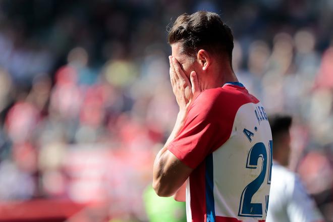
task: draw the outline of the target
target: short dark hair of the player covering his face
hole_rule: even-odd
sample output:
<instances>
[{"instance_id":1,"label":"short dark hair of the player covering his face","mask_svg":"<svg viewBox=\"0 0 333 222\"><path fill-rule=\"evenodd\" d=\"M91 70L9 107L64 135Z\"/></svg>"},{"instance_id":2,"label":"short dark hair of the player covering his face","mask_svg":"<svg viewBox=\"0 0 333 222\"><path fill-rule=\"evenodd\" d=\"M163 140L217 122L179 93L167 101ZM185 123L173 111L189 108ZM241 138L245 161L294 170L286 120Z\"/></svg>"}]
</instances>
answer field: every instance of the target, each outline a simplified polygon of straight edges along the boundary
<instances>
[{"instance_id":1,"label":"short dark hair of the player covering his face","mask_svg":"<svg viewBox=\"0 0 333 222\"><path fill-rule=\"evenodd\" d=\"M198 11L192 15L182 14L169 30L168 42L182 43L183 52L190 57L205 49L212 53L225 53L232 61L234 37L229 26L216 13Z\"/></svg>"}]
</instances>

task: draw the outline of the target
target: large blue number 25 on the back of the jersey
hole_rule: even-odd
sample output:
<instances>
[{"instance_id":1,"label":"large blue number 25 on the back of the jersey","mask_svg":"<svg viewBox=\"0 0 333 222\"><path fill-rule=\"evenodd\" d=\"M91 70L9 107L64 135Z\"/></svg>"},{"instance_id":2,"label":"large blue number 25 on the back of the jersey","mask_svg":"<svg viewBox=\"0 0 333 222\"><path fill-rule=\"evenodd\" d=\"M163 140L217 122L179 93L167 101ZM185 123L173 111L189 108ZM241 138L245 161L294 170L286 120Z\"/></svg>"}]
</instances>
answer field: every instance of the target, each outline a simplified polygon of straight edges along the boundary
<instances>
[{"instance_id":1,"label":"large blue number 25 on the back of the jersey","mask_svg":"<svg viewBox=\"0 0 333 222\"><path fill-rule=\"evenodd\" d=\"M269 154L271 156L271 147L272 141L269 141ZM249 151L246 168L256 169L258 167L258 159L262 158L262 168L259 176L249 183L242 192L241 201L239 204L238 215L239 216L250 216L250 217L262 217L262 203L251 203L251 199L253 195L258 191L261 184L263 183L266 175L267 168L267 151L266 147L262 142L256 143ZM270 166L269 166L269 183L270 183L270 172L271 172L271 158L270 158ZM268 184L268 181L267 181ZM269 196L266 196L266 207L268 208L268 199Z\"/></svg>"}]
</instances>

